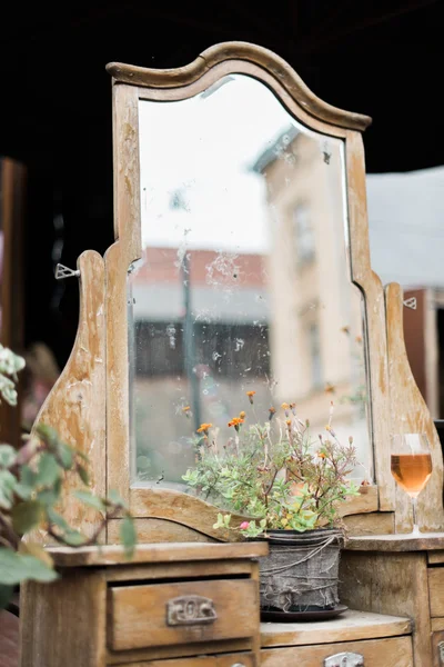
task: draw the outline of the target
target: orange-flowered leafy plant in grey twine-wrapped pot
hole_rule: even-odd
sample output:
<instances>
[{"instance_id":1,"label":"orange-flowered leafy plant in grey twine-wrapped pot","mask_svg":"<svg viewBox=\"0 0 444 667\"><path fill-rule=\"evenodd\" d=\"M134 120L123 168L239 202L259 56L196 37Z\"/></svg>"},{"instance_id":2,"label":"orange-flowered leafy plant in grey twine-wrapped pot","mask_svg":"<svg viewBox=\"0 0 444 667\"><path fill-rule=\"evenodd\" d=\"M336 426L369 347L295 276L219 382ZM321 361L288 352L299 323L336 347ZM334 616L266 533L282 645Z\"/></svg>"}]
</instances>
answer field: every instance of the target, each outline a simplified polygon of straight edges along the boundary
<instances>
[{"instance_id":1,"label":"orange-flowered leafy plant in grey twine-wrapped pot","mask_svg":"<svg viewBox=\"0 0 444 667\"><path fill-rule=\"evenodd\" d=\"M190 492L225 510L215 528L234 527L244 538L268 539L261 561L264 611L334 610L344 530L340 506L360 492L350 479L359 465L353 439L343 445L332 426L313 437L294 404L254 416L254 391L248 392L253 422L244 411L229 422L233 437L218 440L218 429L203 424L194 446L195 466L183 479ZM367 485L367 481L363 482ZM233 526L232 514L245 517Z\"/></svg>"}]
</instances>

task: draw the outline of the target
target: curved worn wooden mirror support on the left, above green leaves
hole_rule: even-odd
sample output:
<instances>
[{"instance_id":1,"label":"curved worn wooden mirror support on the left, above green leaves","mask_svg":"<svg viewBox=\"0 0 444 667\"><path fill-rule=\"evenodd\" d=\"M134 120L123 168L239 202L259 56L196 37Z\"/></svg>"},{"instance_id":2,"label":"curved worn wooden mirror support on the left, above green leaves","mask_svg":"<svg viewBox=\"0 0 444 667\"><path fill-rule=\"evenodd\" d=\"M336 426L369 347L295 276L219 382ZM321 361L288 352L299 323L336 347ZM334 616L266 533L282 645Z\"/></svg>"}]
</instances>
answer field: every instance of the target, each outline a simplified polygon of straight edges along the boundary
<instances>
[{"instance_id":1,"label":"curved worn wooden mirror support on the left, above green leaves","mask_svg":"<svg viewBox=\"0 0 444 667\"><path fill-rule=\"evenodd\" d=\"M43 404L37 424L52 426L69 445L90 460L91 490L105 495L105 326L102 257L92 250L78 261L80 270L79 328L71 356ZM101 521L93 509L72 497L79 478L68 475L62 514L67 521L90 536Z\"/></svg>"}]
</instances>

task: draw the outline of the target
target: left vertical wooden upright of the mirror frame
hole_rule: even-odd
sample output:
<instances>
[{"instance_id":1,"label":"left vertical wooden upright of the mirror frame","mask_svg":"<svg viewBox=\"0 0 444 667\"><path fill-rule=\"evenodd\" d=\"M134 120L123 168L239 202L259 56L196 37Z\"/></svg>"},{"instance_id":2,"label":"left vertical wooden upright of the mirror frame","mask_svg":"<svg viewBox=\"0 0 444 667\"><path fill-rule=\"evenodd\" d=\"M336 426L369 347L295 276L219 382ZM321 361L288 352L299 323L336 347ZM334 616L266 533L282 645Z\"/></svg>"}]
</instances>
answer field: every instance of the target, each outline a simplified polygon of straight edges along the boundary
<instances>
[{"instance_id":1,"label":"left vertical wooden upright of the mirror frame","mask_svg":"<svg viewBox=\"0 0 444 667\"><path fill-rule=\"evenodd\" d=\"M114 235L107 272L108 488L129 501L130 426L127 276L141 256L139 99L135 88L113 87Z\"/></svg>"}]
</instances>

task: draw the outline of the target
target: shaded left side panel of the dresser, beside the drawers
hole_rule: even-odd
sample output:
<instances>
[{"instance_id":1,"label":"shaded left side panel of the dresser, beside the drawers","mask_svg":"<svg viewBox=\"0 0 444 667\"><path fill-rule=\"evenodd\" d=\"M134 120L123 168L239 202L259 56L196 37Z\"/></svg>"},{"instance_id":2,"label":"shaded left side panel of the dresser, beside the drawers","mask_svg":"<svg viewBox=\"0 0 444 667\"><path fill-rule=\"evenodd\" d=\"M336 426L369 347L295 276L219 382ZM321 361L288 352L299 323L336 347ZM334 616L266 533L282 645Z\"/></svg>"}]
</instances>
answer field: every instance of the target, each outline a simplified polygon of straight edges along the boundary
<instances>
[{"instance_id":1,"label":"shaded left side panel of the dresser, beside the drawers","mask_svg":"<svg viewBox=\"0 0 444 667\"><path fill-rule=\"evenodd\" d=\"M20 667L104 667L107 585L99 573L64 571L28 583L20 603Z\"/></svg>"}]
</instances>

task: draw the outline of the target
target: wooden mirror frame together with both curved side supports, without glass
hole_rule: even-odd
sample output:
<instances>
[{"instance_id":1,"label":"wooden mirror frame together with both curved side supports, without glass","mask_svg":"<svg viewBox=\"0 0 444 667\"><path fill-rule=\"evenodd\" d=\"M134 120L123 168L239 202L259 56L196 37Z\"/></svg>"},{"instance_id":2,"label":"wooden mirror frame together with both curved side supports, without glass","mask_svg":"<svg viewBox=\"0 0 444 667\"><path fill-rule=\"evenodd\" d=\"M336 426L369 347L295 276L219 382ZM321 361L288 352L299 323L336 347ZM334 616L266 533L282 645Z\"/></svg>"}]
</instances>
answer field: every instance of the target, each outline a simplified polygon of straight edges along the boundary
<instances>
[{"instance_id":1,"label":"wooden mirror frame together with both curved side supports, without glass","mask_svg":"<svg viewBox=\"0 0 444 667\"><path fill-rule=\"evenodd\" d=\"M71 409L70 420L74 428L65 434L62 426L61 435L92 455L94 488L99 492L104 488L118 490L137 518L140 539L221 539L221 531L213 529L218 508L170 489L131 487L127 277L130 265L142 255L139 100L184 100L202 92L221 77L246 74L264 83L301 123L326 137L344 140L351 279L361 290L366 310L371 441L376 482L367 492L344 504L346 522L352 534L361 535L410 530L411 504L405 494L396 491L390 470L390 434L425 431L432 447L433 474L420 497L418 519L423 530L442 530L442 450L406 358L402 290L393 283L384 291L371 267L362 141L362 131L371 119L323 102L284 60L266 49L244 42L212 47L194 62L179 69L154 70L111 63L107 70L112 76L113 89L115 242L108 249L104 260L93 252L83 253L79 260L82 299L78 340L67 368L43 406L40 420L56 427L61 424L54 418L57 410L54 412L52 404L58 401L59 416L60 409L64 415L68 406L61 407L61 399L69 387L71 407L68 409ZM104 285L100 285L102 273ZM95 389L90 391L85 378L91 379L91 387ZM87 389L88 402L82 397L84 391L75 394L72 389L79 388L80 381L83 390ZM69 404L68 396L64 398ZM87 432L97 435L93 445L85 441ZM68 512L71 520L83 521L87 531L91 530L93 519L80 517L74 506L70 506ZM117 540L119 520L109 521L108 541ZM226 532L223 538L235 539L235 535Z\"/></svg>"}]
</instances>

